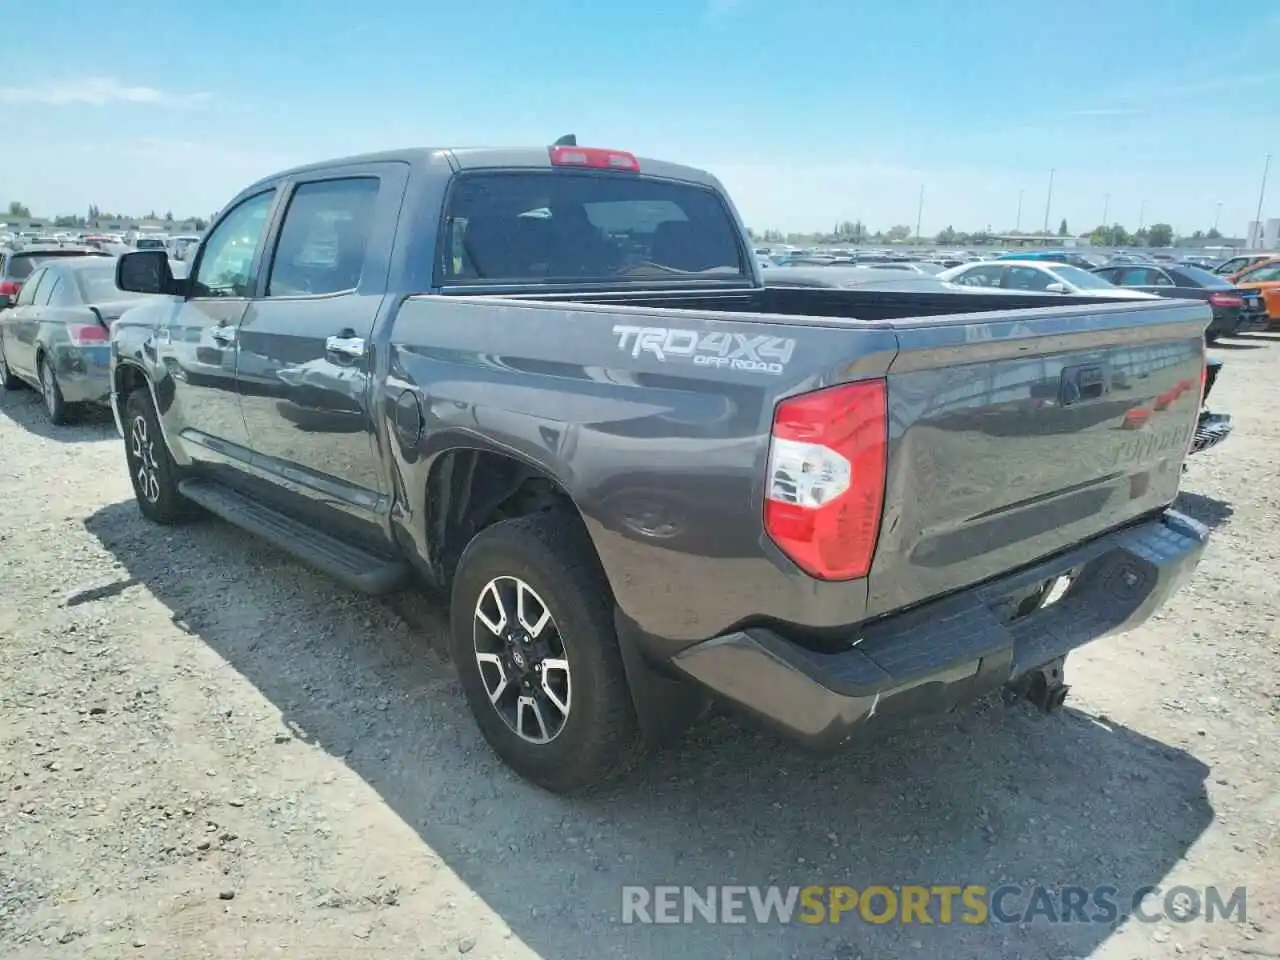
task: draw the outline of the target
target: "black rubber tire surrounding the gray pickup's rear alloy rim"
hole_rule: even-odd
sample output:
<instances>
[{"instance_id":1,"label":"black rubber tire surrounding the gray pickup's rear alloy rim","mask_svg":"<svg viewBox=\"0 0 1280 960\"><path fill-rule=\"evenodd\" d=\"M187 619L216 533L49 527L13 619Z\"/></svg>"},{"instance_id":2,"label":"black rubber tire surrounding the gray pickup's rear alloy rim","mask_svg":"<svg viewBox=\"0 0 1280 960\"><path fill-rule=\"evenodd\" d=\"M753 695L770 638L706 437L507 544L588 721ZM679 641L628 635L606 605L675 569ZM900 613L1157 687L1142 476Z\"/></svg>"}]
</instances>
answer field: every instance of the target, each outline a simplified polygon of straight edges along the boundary
<instances>
[{"instance_id":1,"label":"black rubber tire surrounding the gray pickup's rear alloy rim","mask_svg":"<svg viewBox=\"0 0 1280 960\"><path fill-rule=\"evenodd\" d=\"M552 616L550 632L563 641L562 654L556 655L568 663L568 712L559 732L545 742L526 740L499 713L477 663L476 636L484 630L477 623L477 604L489 584L499 579L527 584ZM580 521L556 512L486 527L463 550L454 573L449 652L471 713L507 765L556 794L577 792L605 781L632 758L637 746L635 708L611 596ZM492 635L479 635L481 643L498 643ZM502 676L507 676L506 671ZM536 687L531 692L539 694Z\"/></svg>"}]
</instances>

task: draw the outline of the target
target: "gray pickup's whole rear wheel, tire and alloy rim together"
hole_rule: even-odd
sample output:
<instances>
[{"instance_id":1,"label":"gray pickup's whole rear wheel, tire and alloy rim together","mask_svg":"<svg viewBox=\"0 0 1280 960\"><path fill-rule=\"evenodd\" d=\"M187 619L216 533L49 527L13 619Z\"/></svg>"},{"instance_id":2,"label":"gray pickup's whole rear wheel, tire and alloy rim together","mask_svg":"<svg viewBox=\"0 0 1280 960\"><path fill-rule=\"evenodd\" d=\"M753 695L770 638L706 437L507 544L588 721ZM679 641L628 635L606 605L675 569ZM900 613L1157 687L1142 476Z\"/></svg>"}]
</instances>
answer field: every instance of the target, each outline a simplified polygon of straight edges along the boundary
<instances>
[{"instance_id":1,"label":"gray pickup's whole rear wheel, tire and alloy rim together","mask_svg":"<svg viewBox=\"0 0 1280 960\"><path fill-rule=\"evenodd\" d=\"M637 741L609 589L576 517L504 520L458 562L449 645L489 746L557 794L608 777Z\"/></svg>"}]
</instances>

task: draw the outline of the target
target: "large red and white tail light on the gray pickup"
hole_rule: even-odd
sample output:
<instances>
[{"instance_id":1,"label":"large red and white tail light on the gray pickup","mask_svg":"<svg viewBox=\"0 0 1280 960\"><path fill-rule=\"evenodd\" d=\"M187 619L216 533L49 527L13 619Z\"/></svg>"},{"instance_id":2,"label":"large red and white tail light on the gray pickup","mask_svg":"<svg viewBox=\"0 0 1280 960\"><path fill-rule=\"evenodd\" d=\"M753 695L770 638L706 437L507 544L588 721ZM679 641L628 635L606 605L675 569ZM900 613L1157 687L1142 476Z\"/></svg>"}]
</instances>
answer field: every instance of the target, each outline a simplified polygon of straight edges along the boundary
<instances>
[{"instance_id":1,"label":"large red and white tail light on the gray pickup","mask_svg":"<svg viewBox=\"0 0 1280 960\"><path fill-rule=\"evenodd\" d=\"M852 580L870 570L887 445L883 380L791 397L774 411L764 530L810 576Z\"/></svg>"}]
</instances>

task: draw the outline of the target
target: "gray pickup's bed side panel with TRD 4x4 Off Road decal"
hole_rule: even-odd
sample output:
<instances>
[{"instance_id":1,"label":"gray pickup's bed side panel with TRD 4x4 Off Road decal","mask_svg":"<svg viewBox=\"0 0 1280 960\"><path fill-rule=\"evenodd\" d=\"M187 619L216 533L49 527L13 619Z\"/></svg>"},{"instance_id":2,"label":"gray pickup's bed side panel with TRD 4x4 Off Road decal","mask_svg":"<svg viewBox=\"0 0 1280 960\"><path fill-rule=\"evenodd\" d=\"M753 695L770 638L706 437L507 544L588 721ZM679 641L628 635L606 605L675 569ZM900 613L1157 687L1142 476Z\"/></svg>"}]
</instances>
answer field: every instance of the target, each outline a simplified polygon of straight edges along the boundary
<instances>
[{"instance_id":1,"label":"gray pickup's bed side panel with TRD 4x4 Off Road decal","mask_svg":"<svg viewBox=\"0 0 1280 960\"><path fill-rule=\"evenodd\" d=\"M836 626L861 616L865 590L819 584L763 531L762 485L780 397L882 375L893 334L869 325L790 326L497 298L412 297L380 349L383 403L420 404L421 435L390 428L396 522L426 556L428 480L456 447L518 457L556 477L595 543L622 613L676 644L762 614ZM626 329L676 330L636 347ZM687 335L791 340L778 372L698 365ZM666 650L672 653L673 650Z\"/></svg>"}]
</instances>

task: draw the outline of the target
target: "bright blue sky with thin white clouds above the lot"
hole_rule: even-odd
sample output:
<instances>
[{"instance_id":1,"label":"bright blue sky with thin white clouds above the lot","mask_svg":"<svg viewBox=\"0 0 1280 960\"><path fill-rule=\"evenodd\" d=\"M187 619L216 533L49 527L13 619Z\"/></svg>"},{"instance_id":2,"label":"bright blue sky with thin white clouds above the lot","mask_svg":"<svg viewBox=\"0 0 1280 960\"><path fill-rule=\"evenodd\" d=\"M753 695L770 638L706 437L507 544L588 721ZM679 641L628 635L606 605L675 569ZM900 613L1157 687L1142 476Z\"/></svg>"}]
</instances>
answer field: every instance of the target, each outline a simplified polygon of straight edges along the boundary
<instances>
[{"instance_id":1,"label":"bright blue sky with thin white clouds above the lot","mask_svg":"<svg viewBox=\"0 0 1280 960\"><path fill-rule=\"evenodd\" d=\"M0 205L207 214L294 163L579 141L705 166L756 228L1242 233L1280 13L1210 0L41 0L0 70ZM12 44L12 41L10 41ZM1265 211L1266 215L1266 211Z\"/></svg>"}]
</instances>

